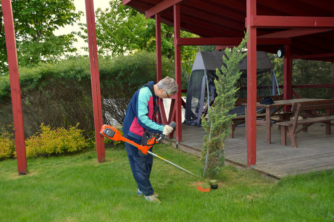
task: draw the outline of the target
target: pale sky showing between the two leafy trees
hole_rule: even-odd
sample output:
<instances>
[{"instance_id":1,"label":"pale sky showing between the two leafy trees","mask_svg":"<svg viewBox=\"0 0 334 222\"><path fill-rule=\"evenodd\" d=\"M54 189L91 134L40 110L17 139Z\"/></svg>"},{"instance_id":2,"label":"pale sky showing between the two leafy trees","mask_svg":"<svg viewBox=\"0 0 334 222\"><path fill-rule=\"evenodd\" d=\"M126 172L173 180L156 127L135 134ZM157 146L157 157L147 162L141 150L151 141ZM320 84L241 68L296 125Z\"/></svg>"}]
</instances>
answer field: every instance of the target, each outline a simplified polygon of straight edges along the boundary
<instances>
[{"instance_id":1,"label":"pale sky showing between the two leafy trees","mask_svg":"<svg viewBox=\"0 0 334 222\"><path fill-rule=\"evenodd\" d=\"M102 8L103 10L105 10L107 7L109 7L109 1L110 0L94 0L94 10L96 10L98 7ZM82 16L80 21L78 22L82 22L82 23L86 23L86 6L85 6L85 0L74 0L74 6L76 8L77 11L83 11L85 16ZM78 25L74 25L74 26L65 26L64 28L60 27L58 30L55 31L55 34L68 34L71 31L79 31L79 26ZM77 37L77 36L76 36ZM78 53L80 54L88 54L88 51L85 52L82 49L80 49L80 47L82 47L83 45L87 44L83 39L77 37L78 42L74 42L73 46L76 47L78 49Z\"/></svg>"}]
</instances>

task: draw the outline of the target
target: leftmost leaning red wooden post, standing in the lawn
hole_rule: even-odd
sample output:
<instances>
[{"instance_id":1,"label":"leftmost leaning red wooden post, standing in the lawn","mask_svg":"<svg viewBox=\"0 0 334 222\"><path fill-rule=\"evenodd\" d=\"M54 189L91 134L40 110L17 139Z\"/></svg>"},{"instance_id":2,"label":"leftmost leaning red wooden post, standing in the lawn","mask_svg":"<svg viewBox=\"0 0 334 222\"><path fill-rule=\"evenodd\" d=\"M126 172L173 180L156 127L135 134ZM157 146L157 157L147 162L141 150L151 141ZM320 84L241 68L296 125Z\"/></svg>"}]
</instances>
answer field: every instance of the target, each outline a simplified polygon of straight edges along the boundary
<instances>
[{"instance_id":1,"label":"leftmost leaning red wooden post, standing in the lawn","mask_svg":"<svg viewBox=\"0 0 334 222\"><path fill-rule=\"evenodd\" d=\"M25 156L21 88L18 75L14 20L13 20L11 1L1 0L1 5L2 5L4 33L5 33L6 48L7 48L11 104L13 108L17 170L19 174L24 175L27 174L27 163Z\"/></svg>"}]
</instances>

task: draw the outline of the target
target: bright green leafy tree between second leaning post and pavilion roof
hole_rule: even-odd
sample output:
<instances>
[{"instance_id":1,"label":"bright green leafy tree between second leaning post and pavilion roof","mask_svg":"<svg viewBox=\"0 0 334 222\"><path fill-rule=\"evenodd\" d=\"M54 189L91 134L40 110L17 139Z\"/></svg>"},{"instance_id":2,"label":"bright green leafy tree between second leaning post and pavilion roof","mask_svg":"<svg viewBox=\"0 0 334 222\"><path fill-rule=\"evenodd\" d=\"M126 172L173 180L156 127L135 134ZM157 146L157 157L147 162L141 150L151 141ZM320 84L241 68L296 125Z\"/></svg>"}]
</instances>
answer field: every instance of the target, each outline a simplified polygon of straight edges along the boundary
<instances>
[{"instance_id":1,"label":"bright green leafy tree between second leaning post and pavilion roof","mask_svg":"<svg viewBox=\"0 0 334 222\"><path fill-rule=\"evenodd\" d=\"M96 10L96 37L100 55L123 55L137 50L156 51L156 21L129 6L122 0L111 0L110 8ZM87 41L86 24L80 23L80 37ZM174 28L161 24L162 54L169 59L174 57ZM181 31L182 37L195 35ZM191 63L196 56L196 46L181 47L181 62L190 73Z\"/></svg>"}]
</instances>

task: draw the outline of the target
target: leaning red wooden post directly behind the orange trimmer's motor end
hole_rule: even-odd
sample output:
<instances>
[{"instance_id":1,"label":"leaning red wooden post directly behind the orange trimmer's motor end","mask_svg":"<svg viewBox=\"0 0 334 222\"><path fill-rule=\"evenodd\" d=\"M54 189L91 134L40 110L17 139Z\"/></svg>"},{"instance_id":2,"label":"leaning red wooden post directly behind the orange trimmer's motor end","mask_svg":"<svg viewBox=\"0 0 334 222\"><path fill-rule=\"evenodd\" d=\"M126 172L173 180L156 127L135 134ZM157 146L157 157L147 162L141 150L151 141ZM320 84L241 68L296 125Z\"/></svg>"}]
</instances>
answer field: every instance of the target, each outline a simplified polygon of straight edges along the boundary
<instances>
[{"instance_id":1,"label":"leaning red wooden post directly behind the orange trimmer's motor end","mask_svg":"<svg viewBox=\"0 0 334 222\"><path fill-rule=\"evenodd\" d=\"M99 163L102 163L106 161L106 155L104 148L104 138L103 136L100 135L100 129L101 126L103 125L103 120L102 120L99 62L97 58L94 3L93 0L85 0L85 3L86 3L88 46L89 46L89 63L90 63L91 83L92 83L96 152Z\"/></svg>"}]
</instances>

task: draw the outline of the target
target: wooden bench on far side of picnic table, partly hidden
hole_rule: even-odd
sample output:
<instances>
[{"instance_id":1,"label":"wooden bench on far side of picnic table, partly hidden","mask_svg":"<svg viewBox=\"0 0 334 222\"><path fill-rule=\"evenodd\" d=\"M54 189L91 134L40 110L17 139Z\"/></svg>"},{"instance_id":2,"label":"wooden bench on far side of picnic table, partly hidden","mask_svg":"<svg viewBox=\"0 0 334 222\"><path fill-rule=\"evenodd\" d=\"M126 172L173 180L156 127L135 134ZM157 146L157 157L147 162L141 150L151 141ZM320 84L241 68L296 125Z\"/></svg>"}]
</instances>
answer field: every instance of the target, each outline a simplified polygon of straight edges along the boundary
<instances>
[{"instance_id":1,"label":"wooden bench on far side of picnic table, partly hidden","mask_svg":"<svg viewBox=\"0 0 334 222\"><path fill-rule=\"evenodd\" d=\"M257 102L262 101L262 99L264 98L264 96L260 96L257 97L256 100ZM277 100L282 100L283 99L283 95L275 95L275 96L271 96L271 98L274 101ZM235 102L235 106L239 106L243 103L247 103L247 98L238 98L237 101ZM275 113L275 116L279 116L278 121L285 121L287 119L290 119L290 116L292 115L292 112L280 112L280 113ZM265 113L258 113L256 114L256 118L265 118L266 114ZM241 124L245 123L245 115L237 115L236 117L234 117L232 119L232 122L230 124L230 128L231 128L231 134L230 134L230 138L234 137L234 131L235 131L235 127Z\"/></svg>"}]
</instances>

